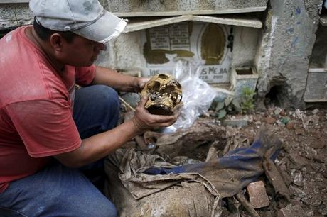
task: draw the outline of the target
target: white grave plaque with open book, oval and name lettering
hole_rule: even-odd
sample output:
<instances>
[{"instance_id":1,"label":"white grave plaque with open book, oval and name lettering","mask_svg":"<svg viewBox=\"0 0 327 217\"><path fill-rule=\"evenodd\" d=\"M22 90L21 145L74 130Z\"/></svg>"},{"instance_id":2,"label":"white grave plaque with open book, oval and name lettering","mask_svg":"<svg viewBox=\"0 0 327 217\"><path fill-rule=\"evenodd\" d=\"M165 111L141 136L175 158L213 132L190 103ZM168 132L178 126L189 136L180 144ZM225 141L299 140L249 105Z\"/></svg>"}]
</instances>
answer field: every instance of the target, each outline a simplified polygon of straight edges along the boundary
<instances>
[{"instance_id":1,"label":"white grave plaque with open book, oval and name lettering","mask_svg":"<svg viewBox=\"0 0 327 217\"><path fill-rule=\"evenodd\" d=\"M172 72L176 61L186 58L200 67L208 84L230 82L232 28L216 23L187 21L144 30L144 75Z\"/></svg>"}]
</instances>

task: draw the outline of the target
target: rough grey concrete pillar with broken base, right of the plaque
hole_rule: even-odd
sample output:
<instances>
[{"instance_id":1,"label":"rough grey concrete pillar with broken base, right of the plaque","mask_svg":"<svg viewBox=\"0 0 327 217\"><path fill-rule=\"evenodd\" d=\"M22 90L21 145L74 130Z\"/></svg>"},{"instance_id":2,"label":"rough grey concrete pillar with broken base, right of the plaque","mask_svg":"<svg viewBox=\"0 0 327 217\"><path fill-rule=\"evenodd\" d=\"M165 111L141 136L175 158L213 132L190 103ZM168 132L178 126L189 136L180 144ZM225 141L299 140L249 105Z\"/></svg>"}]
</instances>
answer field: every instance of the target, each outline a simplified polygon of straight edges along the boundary
<instances>
[{"instance_id":1,"label":"rough grey concrete pillar with broken base, right of the plaque","mask_svg":"<svg viewBox=\"0 0 327 217\"><path fill-rule=\"evenodd\" d=\"M309 57L316 40L321 0L271 0L257 52L258 94L279 86L286 107L304 106Z\"/></svg>"}]
</instances>

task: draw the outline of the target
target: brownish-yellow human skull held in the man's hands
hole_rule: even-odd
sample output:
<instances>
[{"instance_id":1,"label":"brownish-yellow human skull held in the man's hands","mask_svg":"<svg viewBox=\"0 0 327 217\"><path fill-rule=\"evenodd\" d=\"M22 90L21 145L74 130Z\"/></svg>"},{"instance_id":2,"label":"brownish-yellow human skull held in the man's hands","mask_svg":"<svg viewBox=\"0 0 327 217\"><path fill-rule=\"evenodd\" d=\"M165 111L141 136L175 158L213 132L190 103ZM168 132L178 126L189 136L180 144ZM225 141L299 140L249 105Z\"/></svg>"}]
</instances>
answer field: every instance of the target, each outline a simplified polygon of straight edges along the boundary
<instances>
[{"instance_id":1,"label":"brownish-yellow human skull held in the man's hands","mask_svg":"<svg viewBox=\"0 0 327 217\"><path fill-rule=\"evenodd\" d=\"M171 115L181 103L182 87L170 74L157 74L146 83L142 96L149 95L145 109L157 115Z\"/></svg>"}]
</instances>

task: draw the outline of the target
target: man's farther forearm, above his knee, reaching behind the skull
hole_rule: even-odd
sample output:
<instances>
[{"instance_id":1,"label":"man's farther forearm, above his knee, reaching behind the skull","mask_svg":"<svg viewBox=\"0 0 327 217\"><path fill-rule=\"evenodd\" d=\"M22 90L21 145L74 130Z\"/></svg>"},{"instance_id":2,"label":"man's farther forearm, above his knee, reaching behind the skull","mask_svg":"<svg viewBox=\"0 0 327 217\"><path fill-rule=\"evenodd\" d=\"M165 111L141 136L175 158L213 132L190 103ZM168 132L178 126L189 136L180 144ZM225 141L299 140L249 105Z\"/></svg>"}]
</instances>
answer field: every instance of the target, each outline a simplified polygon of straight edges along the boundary
<instances>
[{"instance_id":1,"label":"man's farther forearm, above his knee, reaching behind the skull","mask_svg":"<svg viewBox=\"0 0 327 217\"><path fill-rule=\"evenodd\" d=\"M149 78L132 77L120 74L114 69L97 66L92 84L104 84L118 91L138 92L148 80Z\"/></svg>"}]
</instances>

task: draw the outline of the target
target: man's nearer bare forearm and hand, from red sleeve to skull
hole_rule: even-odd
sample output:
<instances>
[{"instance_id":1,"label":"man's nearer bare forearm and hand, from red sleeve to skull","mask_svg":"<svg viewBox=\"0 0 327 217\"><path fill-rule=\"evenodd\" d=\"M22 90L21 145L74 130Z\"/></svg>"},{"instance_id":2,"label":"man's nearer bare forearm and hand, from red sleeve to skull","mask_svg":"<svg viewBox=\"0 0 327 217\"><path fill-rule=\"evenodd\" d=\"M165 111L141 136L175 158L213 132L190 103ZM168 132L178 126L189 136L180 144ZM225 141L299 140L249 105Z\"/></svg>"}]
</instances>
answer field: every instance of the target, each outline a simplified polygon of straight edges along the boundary
<instances>
[{"instance_id":1,"label":"man's nearer bare forearm and hand, from red sleeve to skull","mask_svg":"<svg viewBox=\"0 0 327 217\"><path fill-rule=\"evenodd\" d=\"M144 130L171 126L176 121L178 114L174 116L152 115L144 109L146 101L147 98L141 99L132 120L107 132L86 138L82 140L79 148L54 157L68 167L82 167L106 157L110 152L124 145Z\"/></svg>"}]
</instances>

